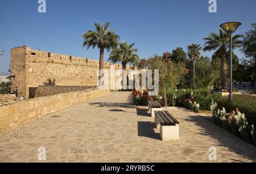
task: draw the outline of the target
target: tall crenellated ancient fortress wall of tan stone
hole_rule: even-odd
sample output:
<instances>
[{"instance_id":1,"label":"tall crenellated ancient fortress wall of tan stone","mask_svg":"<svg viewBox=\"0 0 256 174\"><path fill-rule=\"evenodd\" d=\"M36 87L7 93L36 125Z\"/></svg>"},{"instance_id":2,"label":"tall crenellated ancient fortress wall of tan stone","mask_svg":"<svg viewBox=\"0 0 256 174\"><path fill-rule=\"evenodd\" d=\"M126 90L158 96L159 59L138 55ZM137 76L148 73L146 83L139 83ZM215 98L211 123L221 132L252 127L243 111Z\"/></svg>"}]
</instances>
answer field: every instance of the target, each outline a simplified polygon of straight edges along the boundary
<instances>
[{"instance_id":1,"label":"tall crenellated ancient fortress wall of tan stone","mask_svg":"<svg viewBox=\"0 0 256 174\"><path fill-rule=\"evenodd\" d=\"M16 47L11 49L11 92L28 97L30 88L48 78L54 78L57 86L97 86L98 68L97 60ZM115 64L115 69L121 68ZM110 63L105 63L105 69L110 69Z\"/></svg>"}]
</instances>

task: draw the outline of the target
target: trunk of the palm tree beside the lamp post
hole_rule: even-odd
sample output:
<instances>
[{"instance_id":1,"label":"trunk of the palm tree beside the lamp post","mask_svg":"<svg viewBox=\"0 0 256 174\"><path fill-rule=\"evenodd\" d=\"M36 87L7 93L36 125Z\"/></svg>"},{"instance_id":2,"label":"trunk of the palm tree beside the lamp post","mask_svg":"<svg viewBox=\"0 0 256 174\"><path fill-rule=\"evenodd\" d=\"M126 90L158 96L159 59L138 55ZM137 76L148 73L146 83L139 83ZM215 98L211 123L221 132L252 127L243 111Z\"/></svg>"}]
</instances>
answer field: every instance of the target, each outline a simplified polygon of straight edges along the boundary
<instances>
[{"instance_id":1,"label":"trunk of the palm tree beside the lamp post","mask_svg":"<svg viewBox=\"0 0 256 174\"><path fill-rule=\"evenodd\" d=\"M222 50L220 52L221 56L221 89L228 88L228 80L227 80L227 69L226 69L226 51Z\"/></svg>"}]
</instances>

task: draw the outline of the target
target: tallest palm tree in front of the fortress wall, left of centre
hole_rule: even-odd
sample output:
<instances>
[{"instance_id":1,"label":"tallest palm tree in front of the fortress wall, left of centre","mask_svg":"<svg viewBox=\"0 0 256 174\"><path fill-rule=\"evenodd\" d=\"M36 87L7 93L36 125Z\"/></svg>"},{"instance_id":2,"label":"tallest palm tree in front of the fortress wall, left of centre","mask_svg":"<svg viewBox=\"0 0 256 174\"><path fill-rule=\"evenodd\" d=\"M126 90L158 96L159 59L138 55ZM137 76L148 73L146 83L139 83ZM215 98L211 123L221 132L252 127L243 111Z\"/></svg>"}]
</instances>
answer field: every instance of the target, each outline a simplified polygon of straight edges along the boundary
<instances>
[{"instance_id":1,"label":"tallest palm tree in front of the fortress wall, left of centre","mask_svg":"<svg viewBox=\"0 0 256 174\"><path fill-rule=\"evenodd\" d=\"M94 23L95 31L89 30L82 35L84 47L86 46L87 49L98 47L100 49L100 71L104 69L104 50L106 49L109 52L110 49L116 48L120 38L114 30L108 30L109 24L109 22L105 24L96 22Z\"/></svg>"}]
</instances>

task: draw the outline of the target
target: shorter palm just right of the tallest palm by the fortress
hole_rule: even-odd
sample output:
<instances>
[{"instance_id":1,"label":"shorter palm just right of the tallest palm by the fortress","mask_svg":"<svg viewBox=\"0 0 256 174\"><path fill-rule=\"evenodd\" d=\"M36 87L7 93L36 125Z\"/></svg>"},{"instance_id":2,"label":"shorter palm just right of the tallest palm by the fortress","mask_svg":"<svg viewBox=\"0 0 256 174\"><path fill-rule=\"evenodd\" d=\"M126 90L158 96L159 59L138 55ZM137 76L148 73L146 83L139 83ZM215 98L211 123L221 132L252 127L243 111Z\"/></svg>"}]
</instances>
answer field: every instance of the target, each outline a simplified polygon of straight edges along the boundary
<instances>
[{"instance_id":1,"label":"shorter palm just right of the tallest palm by the fortress","mask_svg":"<svg viewBox=\"0 0 256 174\"><path fill-rule=\"evenodd\" d=\"M127 88L127 84L125 82L127 81L127 73L126 73L126 64L136 64L138 63L139 57L136 55L138 49L133 48L135 43L127 44L127 42L123 42L119 44L119 47L112 50L112 52L109 55L109 60L112 61L112 63L118 63L121 62L122 64L122 81L123 81L123 89Z\"/></svg>"}]
</instances>

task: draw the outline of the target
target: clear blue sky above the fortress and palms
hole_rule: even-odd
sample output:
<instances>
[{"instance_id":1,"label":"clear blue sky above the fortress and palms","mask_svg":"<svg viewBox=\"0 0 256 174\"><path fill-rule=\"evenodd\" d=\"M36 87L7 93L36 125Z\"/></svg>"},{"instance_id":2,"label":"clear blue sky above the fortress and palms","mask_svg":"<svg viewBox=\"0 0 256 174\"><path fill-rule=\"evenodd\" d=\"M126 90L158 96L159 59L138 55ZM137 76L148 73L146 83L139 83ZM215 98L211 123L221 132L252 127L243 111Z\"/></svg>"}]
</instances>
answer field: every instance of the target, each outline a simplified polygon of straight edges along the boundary
<instances>
[{"instance_id":1,"label":"clear blue sky above the fortress and palms","mask_svg":"<svg viewBox=\"0 0 256 174\"><path fill-rule=\"evenodd\" d=\"M10 49L32 49L98 59L98 49L82 47L82 34L93 23L110 22L121 41L135 43L138 55L172 51L203 38L228 21L242 22L236 34L256 23L255 0L217 0L217 13L209 13L208 0L46 0L47 13L38 13L38 0L0 0L0 49L5 50L3 72L10 65ZM185 51L187 51L185 49ZM212 52L202 52L212 56ZM238 57L243 55L236 51ZM108 53L105 53L108 59Z\"/></svg>"}]
</instances>

